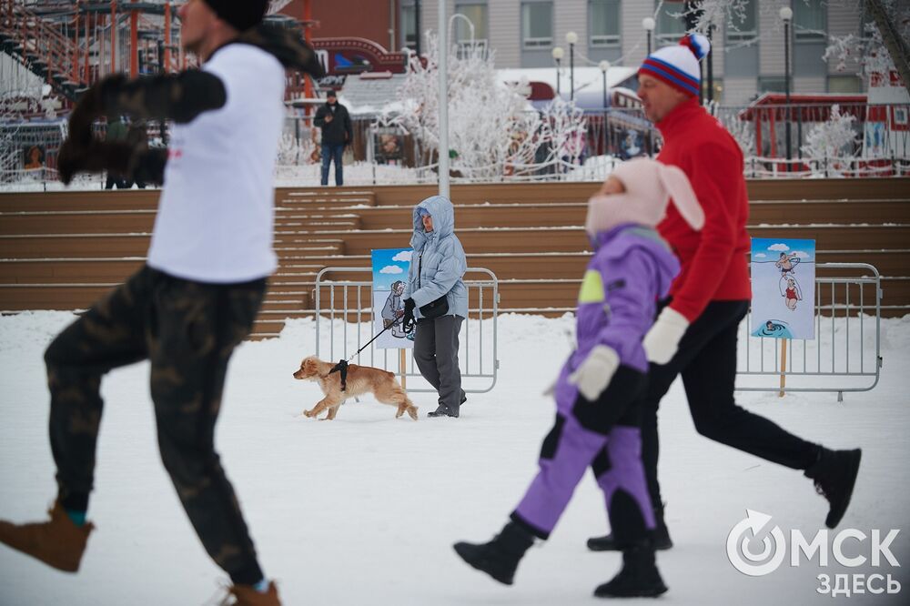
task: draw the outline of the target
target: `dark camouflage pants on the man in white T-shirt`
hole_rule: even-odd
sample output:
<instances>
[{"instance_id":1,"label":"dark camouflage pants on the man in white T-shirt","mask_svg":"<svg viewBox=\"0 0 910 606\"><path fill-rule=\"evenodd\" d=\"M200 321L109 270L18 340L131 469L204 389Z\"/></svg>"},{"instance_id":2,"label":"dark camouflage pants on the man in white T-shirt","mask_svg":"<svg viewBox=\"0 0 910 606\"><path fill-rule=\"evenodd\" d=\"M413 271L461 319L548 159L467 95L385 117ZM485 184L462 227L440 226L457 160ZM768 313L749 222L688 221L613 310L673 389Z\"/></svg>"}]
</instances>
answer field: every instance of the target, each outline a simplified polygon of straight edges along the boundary
<instances>
[{"instance_id":1,"label":"dark camouflage pants on the man in white T-shirt","mask_svg":"<svg viewBox=\"0 0 910 606\"><path fill-rule=\"evenodd\" d=\"M262 579L214 438L228 359L249 334L265 289L265 279L203 284L144 267L54 339L45 363L64 507L88 505L102 376L148 359L161 459L199 539L234 582Z\"/></svg>"}]
</instances>

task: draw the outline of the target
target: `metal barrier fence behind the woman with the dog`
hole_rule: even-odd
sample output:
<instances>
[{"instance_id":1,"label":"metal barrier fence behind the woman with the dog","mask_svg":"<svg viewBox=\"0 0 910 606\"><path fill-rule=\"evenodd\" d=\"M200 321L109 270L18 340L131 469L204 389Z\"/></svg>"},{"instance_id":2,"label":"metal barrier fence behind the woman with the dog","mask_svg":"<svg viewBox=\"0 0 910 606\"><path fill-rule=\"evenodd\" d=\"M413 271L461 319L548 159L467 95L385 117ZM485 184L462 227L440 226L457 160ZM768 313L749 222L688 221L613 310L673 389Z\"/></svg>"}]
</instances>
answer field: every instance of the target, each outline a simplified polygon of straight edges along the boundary
<instances>
[{"instance_id":1,"label":"metal barrier fence behind the woman with the dog","mask_svg":"<svg viewBox=\"0 0 910 606\"><path fill-rule=\"evenodd\" d=\"M324 268L316 277L316 355L328 353L328 360L349 359L352 363L386 369L399 375L411 392L435 392L420 376L411 349L377 349L373 314L372 280L326 279L326 274L359 273L371 275L370 268ZM464 279L468 288L468 318L461 325L459 367L461 389L469 393L490 391L496 385L500 368L496 357L499 315L499 280L486 268L468 268L470 274L487 278ZM328 290L323 296L323 290ZM328 301L328 305L326 305ZM404 351L401 364L399 351ZM391 353L389 353L391 352ZM327 361L328 361L327 360ZM413 379L413 380L409 380Z\"/></svg>"}]
</instances>

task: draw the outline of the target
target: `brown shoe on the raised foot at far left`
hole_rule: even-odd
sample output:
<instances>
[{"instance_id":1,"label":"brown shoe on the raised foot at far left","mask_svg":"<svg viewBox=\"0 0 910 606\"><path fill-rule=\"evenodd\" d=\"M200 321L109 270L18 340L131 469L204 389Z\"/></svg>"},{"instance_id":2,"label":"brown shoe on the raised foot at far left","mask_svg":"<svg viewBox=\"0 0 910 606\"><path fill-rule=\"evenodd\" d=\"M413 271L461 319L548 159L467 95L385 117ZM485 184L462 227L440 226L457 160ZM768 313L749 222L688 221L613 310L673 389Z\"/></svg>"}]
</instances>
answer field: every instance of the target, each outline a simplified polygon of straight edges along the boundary
<instances>
[{"instance_id":1,"label":"brown shoe on the raised foot at far left","mask_svg":"<svg viewBox=\"0 0 910 606\"><path fill-rule=\"evenodd\" d=\"M0 520L0 542L58 570L78 571L88 535L95 530L95 526L91 522L76 526L57 502L54 509L47 513L51 516L50 520L31 524L11 524Z\"/></svg>"}]
</instances>

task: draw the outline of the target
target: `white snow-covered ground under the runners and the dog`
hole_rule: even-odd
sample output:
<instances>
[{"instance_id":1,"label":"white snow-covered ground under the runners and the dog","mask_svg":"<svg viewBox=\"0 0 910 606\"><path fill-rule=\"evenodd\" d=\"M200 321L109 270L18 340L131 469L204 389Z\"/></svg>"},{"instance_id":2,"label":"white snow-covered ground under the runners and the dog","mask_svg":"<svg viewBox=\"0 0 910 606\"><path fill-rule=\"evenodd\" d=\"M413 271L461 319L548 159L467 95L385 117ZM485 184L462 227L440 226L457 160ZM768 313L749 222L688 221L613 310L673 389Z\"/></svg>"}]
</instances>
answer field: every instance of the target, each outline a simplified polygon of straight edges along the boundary
<instances>
[{"instance_id":1,"label":"white snow-covered ground under the runners and the dog","mask_svg":"<svg viewBox=\"0 0 910 606\"><path fill-rule=\"evenodd\" d=\"M40 517L55 495L46 437L42 350L72 319L62 312L0 318L0 517ZM393 419L372 399L346 405L334 422L295 418L318 398L314 384L291 378L313 349L308 320L281 338L245 343L232 362L218 448L238 489L263 567L284 603L446 606L602 603L593 588L620 556L591 553L584 540L607 530L602 497L582 481L551 540L532 549L513 587L457 559L456 540L487 540L501 528L535 472L553 406L541 396L566 353L567 318L507 316L500 321L501 378L472 395L453 419L424 419L432 399L416 394L421 419ZM698 436L677 383L662 406L661 475L676 547L659 555L673 604L806 604L816 575L891 574L899 594L856 595L851 602L910 601L910 318L884 323L885 366L872 392L743 394L749 409L806 439L864 449L853 504L842 528L871 535L901 532L891 544L903 568L845 569L817 560L749 577L727 560L727 534L746 508L773 516L789 536L821 527L824 500L800 473ZM98 451L96 522L82 571L52 571L0 547L0 604L202 604L224 575L208 560L157 455L148 367L112 373ZM829 540L829 545L831 541ZM850 556L870 555L868 540L847 540ZM789 555L789 552L788 552ZM877 584L875 585L877 587ZM844 600L844 598L842 598Z\"/></svg>"}]
</instances>

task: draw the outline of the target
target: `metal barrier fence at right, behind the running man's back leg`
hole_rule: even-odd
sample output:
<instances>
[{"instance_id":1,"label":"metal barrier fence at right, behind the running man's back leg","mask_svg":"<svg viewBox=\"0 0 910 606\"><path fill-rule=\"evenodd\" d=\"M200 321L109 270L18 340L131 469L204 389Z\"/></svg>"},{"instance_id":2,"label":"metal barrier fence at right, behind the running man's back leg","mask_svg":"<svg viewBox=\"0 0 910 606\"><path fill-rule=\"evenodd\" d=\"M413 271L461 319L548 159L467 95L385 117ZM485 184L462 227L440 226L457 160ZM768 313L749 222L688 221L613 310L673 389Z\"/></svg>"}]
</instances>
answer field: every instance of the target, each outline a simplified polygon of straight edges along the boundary
<instances>
[{"instance_id":1,"label":"metal barrier fence at right, behind the running man's back leg","mask_svg":"<svg viewBox=\"0 0 910 606\"><path fill-rule=\"evenodd\" d=\"M751 337L750 311L740 327L745 338L737 346L737 390L830 391L843 401L844 391L868 391L878 384L883 294L878 270L866 263L819 263L815 269L814 340L785 339L782 347L781 339ZM830 270L839 271L818 276L819 271L834 273Z\"/></svg>"}]
</instances>

